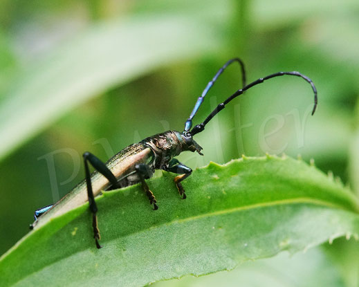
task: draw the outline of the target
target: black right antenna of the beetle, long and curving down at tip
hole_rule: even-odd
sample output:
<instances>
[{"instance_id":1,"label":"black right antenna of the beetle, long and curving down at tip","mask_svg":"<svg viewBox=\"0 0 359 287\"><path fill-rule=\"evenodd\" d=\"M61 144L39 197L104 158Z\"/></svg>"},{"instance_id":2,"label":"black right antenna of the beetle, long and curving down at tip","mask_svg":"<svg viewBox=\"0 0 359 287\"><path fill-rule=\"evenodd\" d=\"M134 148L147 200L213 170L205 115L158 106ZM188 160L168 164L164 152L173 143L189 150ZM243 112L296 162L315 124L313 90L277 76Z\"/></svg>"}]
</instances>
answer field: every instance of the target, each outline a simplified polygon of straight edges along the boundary
<instances>
[{"instance_id":1,"label":"black right antenna of the beetle, long and curving down at tip","mask_svg":"<svg viewBox=\"0 0 359 287\"><path fill-rule=\"evenodd\" d=\"M204 122L202 122L201 124L197 124L196 127L194 127L192 129L192 131L190 131L190 134L192 136L194 136L196 133L200 133L201 131L203 131L203 129L205 129L205 125L208 124L208 122L210 120L212 120L214 115L217 115L217 113L219 113L219 111L221 111L221 110L223 110L225 108L226 104L228 104L234 98L237 98L239 95L241 95L242 93L244 93L248 89L252 88L252 86L256 86L257 84L263 83L265 80L271 79L273 77L279 77L279 76L282 76L282 75L293 75L293 76L297 76L297 77L302 77L302 79L306 80L306 82L309 82L309 84L311 84L311 87L312 87L312 90L313 90L313 93L314 93L314 107L313 107L313 111L312 111L312 115L313 115L314 112L315 112L315 109L317 109L317 89L315 88L315 85L312 82L312 80L309 79L309 77L306 77L305 75L302 75L301 73L295 72L295 71L293 71L293 72L278 72L278 73L274 73L272 75L268 75L266 77L261 77L258 80L255 80L255 82L251 82L247 86L244 86L242 89L239 89L238 91L236 91L227 100L225 100L224 102L219 104L216 107L216 109L214 109L212 111L212 113L210 113L210 115L208 115L208 117L204 120Z\"/></svg>"}]
</instances>

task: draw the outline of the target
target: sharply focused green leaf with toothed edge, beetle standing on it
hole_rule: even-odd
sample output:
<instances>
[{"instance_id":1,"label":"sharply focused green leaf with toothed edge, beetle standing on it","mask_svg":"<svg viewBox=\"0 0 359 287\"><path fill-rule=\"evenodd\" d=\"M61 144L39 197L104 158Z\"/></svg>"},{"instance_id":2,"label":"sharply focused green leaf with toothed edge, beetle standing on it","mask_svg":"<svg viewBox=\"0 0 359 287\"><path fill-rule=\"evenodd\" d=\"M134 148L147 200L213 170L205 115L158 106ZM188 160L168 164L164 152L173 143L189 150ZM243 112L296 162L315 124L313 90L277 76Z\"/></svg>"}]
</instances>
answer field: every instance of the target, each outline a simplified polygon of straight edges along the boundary
<instances>
[{"instance_id":1,"label":"sharply focused green leaf with toothed edge, beetle standing on it","mask_svg":"<svg viewBox=\"0 0 359 287\"><path fill-rule=\"evenodd\" d=\"M196 169L181 200L172 174L98 198L102 249L88 205L30 232L0 260L3 286L143 286L230 270L244 261L358 238L359 203L341 183L291 158L243 158Z\"/></svg>"}]
</instances>

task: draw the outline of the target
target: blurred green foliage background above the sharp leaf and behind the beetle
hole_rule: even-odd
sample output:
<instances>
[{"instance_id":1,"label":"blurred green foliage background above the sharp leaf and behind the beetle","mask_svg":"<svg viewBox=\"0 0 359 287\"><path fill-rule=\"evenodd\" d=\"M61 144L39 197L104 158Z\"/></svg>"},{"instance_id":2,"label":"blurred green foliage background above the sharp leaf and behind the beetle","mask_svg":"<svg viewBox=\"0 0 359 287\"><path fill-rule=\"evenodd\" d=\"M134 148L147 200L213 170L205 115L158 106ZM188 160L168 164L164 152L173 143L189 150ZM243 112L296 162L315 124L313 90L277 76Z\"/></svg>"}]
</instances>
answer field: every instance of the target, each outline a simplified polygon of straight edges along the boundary
<instances>
[{"instance_id":1,"label":"blurred green foliage background above the sharp leaf and behind the beetle","mask_svg":"<svg viewBox=\"0 0 359 287\"><path fill-rule=\"evenodd\" d=\"M194 168L241 154L301 154L358 189L358 30L355 0L2 0L0 254L28 232L34 210L82 180L84 151L107 160L147 136L181 131L231 57L246 63L249 82L308 75L317 113L309 116L309 84L280 77L231 102L196 136L203 157L179 159ZM240 77L228 68L195 124Z\"/></svg>"}]
</instances>

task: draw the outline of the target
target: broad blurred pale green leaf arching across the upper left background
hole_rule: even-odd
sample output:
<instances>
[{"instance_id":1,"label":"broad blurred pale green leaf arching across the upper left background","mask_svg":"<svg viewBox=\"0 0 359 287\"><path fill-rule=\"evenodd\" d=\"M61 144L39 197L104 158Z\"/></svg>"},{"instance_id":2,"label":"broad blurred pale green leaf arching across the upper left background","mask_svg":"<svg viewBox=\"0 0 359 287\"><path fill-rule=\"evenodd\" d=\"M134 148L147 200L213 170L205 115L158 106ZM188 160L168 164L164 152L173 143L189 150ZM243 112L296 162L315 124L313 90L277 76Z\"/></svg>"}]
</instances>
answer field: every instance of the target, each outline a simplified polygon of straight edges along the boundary
<instances>
[{"instance_id":1,"label":"broad blurred pale green leaf arching across the upper left background","mask_svg":"<svg viewBox=\"0 0 359 287\"><path fill-rule=\"evenodd\" d=\"M113 86L159 66L214 53L224 45L221 25L205 21L208 9L203 11L192 18L140 15L93 24L28 63L0 95L0 159L66 111Z\"/></svg>"}]
</instances>

